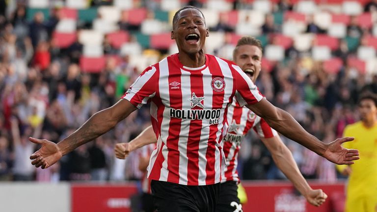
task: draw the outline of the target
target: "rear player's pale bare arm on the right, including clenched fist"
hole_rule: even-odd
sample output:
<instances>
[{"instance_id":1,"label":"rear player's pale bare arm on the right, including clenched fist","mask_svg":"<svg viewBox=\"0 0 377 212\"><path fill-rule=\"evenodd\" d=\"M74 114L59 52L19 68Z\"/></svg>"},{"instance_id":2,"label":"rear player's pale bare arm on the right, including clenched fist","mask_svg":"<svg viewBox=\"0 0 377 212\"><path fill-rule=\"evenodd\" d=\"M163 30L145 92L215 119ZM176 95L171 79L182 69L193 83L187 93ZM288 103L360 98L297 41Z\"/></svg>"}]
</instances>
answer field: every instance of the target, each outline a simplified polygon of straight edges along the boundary
<instances>
[{"instance_id":1,"label":"rear player's pale bare arm on the right, including clenched fist","mask_svg":"<svg viewBox=\"0 0 377 212\"><path fill-rule=\"evenodd\" d=\"M289 151L288 147L280 139L280 136L275 135L271 138L261 137L261 140L271 153L276 166L293 183L306 200L317 207L322 205L323 202L325 202L327 195L322 189L313 190L306 182L297 167L296 161L293 159L291 151Z\"/></svg>"}]
</instances>

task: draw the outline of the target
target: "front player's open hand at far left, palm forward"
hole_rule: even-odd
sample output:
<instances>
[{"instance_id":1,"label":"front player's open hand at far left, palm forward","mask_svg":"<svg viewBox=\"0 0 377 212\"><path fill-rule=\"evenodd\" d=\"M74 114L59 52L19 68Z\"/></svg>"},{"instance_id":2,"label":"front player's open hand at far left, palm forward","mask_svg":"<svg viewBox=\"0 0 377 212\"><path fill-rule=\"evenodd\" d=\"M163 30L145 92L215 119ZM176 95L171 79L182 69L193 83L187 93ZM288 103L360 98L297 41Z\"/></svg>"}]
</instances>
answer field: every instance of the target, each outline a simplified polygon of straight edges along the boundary
<instances>
[{"instance_id":1,"label":"front player's open hand at far left, palm forward","mask_svg":"<svg viewBox=\"0 0 377 212\"><path fill-rule=\"evenodd\" d=\"M29 140L42 145L38 151L30 156L30 159L32 159L31 164L35 165L35 167L48 168L62 157L59 147L54 142L33 137L29 137Z\"/></svg>"}]
</instances>

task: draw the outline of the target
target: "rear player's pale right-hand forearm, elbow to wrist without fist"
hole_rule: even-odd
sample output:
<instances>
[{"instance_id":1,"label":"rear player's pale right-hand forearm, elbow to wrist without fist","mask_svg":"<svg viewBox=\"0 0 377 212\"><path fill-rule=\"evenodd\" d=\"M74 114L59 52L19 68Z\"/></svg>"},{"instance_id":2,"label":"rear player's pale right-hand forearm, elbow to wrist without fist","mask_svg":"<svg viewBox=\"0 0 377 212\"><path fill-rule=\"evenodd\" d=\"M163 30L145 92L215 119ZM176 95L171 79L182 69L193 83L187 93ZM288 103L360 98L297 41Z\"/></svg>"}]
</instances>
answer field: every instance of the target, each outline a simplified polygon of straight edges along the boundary
<instances>
[{"instance_id":1,"label":"rear player's pale right-hand forearm, elbow to wrist without fist","mask_svg":"<svg viewBox=\"0 0 377 212\"><path fill-rule=\"evenodd\" d=\"M305 178L300 173L295 159L289 149L283 145L280 147L278 154L273 154L272 159L276 166L284 173L284 175L293 183L296 189L303 195L307 196L311 189Z\"/></svg>"}]
</instances>

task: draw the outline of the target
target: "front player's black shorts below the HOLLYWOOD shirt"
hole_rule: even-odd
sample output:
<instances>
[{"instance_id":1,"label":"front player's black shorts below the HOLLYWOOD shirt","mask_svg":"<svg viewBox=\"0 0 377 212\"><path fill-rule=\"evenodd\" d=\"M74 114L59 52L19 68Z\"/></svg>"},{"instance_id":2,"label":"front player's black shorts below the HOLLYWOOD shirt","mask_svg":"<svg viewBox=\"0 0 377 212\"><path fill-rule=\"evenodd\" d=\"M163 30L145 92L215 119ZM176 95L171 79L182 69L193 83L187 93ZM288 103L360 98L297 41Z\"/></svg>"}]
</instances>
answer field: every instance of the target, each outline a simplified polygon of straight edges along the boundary
<instances>
[{"instance_id":1,"label":"front player's black shorts below the HOLLYWOOD shirt","mask_svg":"<svg viewBox=\"0 0 377 212\"><path fill-rule=\"evenodd\" d=\"M157 212L217 212L220 184L179 185L151 181L153 204Z\"/></svg>"}]
</instances>

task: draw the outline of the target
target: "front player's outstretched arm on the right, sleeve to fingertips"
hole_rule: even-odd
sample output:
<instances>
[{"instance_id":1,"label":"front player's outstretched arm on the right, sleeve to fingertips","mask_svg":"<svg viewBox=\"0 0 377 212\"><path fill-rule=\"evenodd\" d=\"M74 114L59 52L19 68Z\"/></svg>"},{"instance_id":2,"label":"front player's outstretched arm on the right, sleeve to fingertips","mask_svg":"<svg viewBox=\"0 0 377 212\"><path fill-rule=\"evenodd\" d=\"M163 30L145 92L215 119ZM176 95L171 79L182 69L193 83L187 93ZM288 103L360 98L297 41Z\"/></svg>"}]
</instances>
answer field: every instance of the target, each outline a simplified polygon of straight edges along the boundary
<instances>
[{"instance_id":1,"label":"front player's outstretched arm on the right, sleeve to fingertips","mask_svg":"<svg viewBox=\"0 0 377 212\"><path fill-rule=\"evenodd\" d=\"M254 105L246 105L255 114L264 118L269 126L280 132L284 136L305 146L320 156L337 164L352 164L355 159L359 159L358 150L346 149L342 143L353 140L352 137L336 139L325 144L315 136L306 132L297 121L286 111L273 106L263 98Z\"/></svg>"}]
</instances>

